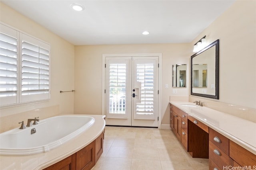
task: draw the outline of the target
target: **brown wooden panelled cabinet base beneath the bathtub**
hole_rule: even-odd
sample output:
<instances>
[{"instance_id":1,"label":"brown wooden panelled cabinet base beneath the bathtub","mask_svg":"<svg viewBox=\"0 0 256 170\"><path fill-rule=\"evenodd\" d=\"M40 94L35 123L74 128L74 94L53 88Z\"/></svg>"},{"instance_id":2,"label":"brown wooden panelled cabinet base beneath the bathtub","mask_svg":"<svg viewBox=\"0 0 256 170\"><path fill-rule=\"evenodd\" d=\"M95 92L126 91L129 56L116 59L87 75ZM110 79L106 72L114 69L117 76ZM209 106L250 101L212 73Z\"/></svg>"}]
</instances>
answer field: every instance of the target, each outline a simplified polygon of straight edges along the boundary
<instances>
[{"instance_id":1,"label":"brown wooden panelled cabinet base beneath the bathtub","mask_svg":"<svg viewBox=\"0 0 256 170\"><path fill-rule=\"evenodd\" d=\"M44 170L90 170L103 152L104 131L89 145Z\"/></svg>"}]
</instances>

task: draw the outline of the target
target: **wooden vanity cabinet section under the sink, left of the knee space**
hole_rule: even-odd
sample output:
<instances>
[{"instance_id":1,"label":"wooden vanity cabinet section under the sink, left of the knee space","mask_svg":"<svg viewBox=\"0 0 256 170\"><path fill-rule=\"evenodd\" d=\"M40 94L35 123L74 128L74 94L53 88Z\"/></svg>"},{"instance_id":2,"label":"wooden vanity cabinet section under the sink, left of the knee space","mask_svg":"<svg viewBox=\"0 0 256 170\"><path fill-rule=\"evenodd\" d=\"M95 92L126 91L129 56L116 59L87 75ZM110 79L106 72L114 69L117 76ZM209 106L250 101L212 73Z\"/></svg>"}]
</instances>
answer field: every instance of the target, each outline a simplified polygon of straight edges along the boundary
<instances>
[{"instance_id":1,"label":"wooden vanity cabinet section under the sink, left of the knee space","mask_svg":"<svg viewBox=\"0 0 256 170\"><path fill-rule=\"evenodd\" d=\"M188 150L188 114L170 105L170 127L183 147Z\"/></svg>"}]
</instances>

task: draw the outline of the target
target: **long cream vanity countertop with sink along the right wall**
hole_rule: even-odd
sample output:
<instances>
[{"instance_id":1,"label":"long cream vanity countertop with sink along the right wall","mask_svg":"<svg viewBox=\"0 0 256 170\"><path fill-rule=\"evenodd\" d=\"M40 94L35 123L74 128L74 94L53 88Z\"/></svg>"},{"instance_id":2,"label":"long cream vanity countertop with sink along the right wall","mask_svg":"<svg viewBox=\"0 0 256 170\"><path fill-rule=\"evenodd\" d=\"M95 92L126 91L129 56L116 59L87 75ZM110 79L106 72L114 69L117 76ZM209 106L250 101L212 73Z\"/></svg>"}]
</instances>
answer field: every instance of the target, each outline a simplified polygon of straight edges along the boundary
<instances>
[{"instance_id":1,"label":"long cream vanity countertop with sink along the right wall","mask_svg":"<svg viewBox=\"0 0 256 170\"><path fill-rule=\"evenodd\" d=\"M256 123L205 106L191 107L195 105L192 102L170 101L170 104L256 154Z\"/></svg>"}]
</instances>

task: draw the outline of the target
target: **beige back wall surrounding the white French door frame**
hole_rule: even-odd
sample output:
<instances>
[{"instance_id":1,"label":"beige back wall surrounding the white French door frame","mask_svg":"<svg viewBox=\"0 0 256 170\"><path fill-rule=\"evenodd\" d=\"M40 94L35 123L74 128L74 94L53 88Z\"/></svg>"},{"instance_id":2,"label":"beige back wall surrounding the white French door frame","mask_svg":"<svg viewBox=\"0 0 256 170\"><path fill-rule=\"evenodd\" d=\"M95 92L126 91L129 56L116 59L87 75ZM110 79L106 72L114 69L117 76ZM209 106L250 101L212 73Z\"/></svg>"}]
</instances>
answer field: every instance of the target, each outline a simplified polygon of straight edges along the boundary
<instances>
[{"instance_id":1,"label":"beige back wall surrounding the white French door frame","mask_svg":"<svg viewBox=\"0 0 256 170\"><path fill-rule=\"evenodd\" d=\"M74 113L102 113L102 54L162 53L162 124L169 124L172 64L189 64L189 44L84 45L75 46ZM169 85L165 89L165 84ZM188 88L178 89L188 96ZM177 95L178 95L177 94Z\"/></svg>"}]
</instances>

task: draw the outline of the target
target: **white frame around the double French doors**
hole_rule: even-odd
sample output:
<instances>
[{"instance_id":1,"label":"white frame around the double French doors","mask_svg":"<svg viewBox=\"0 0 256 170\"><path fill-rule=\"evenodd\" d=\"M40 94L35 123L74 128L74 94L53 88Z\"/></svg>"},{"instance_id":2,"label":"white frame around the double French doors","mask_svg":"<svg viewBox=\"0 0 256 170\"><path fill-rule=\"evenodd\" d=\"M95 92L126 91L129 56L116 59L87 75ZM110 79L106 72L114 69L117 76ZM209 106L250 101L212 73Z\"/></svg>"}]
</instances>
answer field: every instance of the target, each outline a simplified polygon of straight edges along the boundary
<instances>
[{"instance_id":1,"label":"white frame around the double French doors","mask_svg":"<svg viewBox=\"0 0 256 170\"><path fill-rule=\"evenodd\" d=\"M161 129L162 124L162 53L132 53L132 54L102 54L102 115L105 115L105 90L106 90L106 57L158 57L158 129Z\"/></svg>"}]
</instances>

